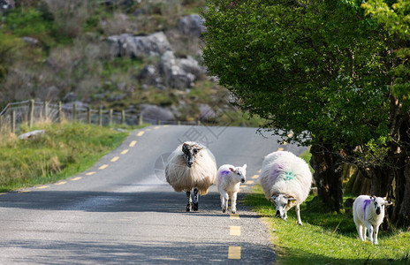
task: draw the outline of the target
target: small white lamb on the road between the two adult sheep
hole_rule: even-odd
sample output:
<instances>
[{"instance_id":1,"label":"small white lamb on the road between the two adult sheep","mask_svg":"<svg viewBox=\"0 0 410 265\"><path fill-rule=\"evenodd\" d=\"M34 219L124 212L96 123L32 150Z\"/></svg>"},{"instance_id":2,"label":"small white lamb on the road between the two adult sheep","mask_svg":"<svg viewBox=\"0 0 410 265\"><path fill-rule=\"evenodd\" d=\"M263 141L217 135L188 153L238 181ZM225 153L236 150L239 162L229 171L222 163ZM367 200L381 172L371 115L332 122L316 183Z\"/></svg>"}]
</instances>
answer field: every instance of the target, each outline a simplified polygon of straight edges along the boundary
<instances>
[{"instance_id":1,"label":"small white lamb on the road between the two adult sheep","mask_svg":"<svg viewBox=\"0 0 410 265\"><path fill-rule=\"evenodd\" d=\"M247 164L242 167L234 167L232 164L224 164L219 167L216 174L216 186L221 194L222 212L228 209L228 201L231 197L231 211L236 213L236 198L240 183L247 181Z\"/></svg>"}]
</instances>

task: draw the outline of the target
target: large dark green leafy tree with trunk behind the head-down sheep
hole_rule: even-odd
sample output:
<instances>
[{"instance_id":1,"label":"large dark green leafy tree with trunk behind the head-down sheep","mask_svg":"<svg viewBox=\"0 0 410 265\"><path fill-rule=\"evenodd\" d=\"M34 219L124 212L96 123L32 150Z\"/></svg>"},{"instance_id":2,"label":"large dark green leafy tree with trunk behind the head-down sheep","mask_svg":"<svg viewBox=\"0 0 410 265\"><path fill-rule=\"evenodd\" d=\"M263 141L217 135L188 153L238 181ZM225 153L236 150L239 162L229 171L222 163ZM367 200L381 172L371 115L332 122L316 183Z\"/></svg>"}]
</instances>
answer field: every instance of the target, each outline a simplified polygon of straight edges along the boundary
<instances>
[{"instance_id":1,"label":"large dark green leafy tree with trunk behind the head-down sheep","mask_svg":"<svg viewBox=\"0 0 410 265\"><path fill-rule=\"evenodd\" d=\"M265 128L312 146L319 195L336 210L341 163L372 172L391 142L393 44L360 4L210 0L202 13L209 72Z\"/></svg>"}]
</instances>

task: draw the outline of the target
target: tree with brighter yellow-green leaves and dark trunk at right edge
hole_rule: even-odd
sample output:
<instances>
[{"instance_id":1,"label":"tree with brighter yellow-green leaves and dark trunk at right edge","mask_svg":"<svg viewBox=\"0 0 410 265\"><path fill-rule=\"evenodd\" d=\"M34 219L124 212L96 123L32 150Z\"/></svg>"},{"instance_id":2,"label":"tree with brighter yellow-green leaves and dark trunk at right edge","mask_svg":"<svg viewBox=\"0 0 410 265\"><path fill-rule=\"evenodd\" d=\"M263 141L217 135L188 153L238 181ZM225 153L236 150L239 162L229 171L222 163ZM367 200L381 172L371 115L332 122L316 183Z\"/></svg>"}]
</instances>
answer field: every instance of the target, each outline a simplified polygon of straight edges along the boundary
<instances>
[{"instance_id":1,"label":"tree with brighter yellow-green leaves and dark trunk at right edge","mask_svg":"<svg viewBox=\"0 0 410 265\"><path fill-rule=\"evenodd\" d=\"M394 161L395 208L392 222L410 226L410 3L408 1L369 0L362 4L369 17L374 18L391 34L395 46L391 50L394 57L391 72L391 155Z\"/></svg>"}]
</instances>

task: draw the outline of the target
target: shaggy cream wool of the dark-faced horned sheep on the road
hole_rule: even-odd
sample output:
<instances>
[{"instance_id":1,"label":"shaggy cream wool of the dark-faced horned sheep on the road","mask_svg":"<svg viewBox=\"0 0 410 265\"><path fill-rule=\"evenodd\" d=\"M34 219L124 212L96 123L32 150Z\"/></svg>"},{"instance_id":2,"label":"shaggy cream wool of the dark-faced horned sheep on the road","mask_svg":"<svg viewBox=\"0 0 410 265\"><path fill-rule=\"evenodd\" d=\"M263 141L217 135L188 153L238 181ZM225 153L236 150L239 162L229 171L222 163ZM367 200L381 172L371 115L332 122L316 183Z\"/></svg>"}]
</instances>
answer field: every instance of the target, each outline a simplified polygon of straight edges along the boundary
<instances>
[{"instance_id":1,"label":"shaggy cream wool of the dark-faced horned sheep on the road","mask_svg":"<svg viewBox=\"0 0 410 265\"><path fill-rule=\"evenodd\" d=\"M196 144L190 141L186 143ZM216 180L215 157L209 148L203 147L197 155L194 165L189 168L186 166L181 144L169 156L165 167L165 177L178 193L191 191L197 187L200 194L205 195L208 193L209 186L212 186Z\"/></svg>"}]
</instances>

